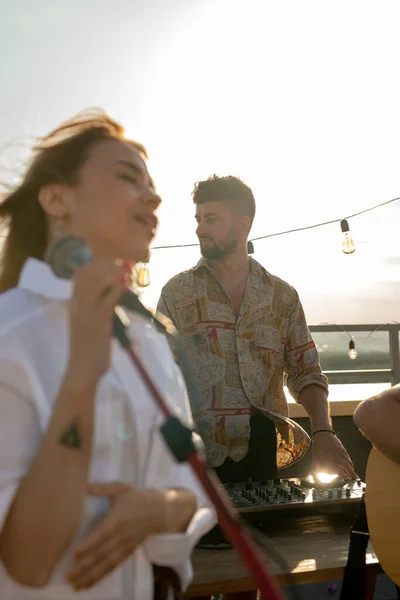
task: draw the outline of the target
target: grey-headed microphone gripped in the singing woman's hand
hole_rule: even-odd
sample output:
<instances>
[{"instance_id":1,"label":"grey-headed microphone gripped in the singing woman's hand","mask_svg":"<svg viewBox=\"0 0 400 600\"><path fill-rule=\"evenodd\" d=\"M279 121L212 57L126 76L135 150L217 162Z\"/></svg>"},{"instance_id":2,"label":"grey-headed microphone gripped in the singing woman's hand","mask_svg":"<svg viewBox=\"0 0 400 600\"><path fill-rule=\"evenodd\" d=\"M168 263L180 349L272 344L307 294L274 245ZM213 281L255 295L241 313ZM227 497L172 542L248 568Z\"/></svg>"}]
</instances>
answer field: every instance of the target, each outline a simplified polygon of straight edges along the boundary
<instances>
[{"instance_id":1,"label":"grey-headed microphone gripped in the singing woman's hand","mask_svg":"<svg viewBox=\"0 0 400 600\"><path fill-rule=\"evenodd\" d=\"M49 245L44 259L54 275L61 279L72 279L76 269L89 263L93 254L83 238L67 235ZM113 335L124 348L131 346L127 326L116 311L113 315Z\"/></svg>"}]
</instances>

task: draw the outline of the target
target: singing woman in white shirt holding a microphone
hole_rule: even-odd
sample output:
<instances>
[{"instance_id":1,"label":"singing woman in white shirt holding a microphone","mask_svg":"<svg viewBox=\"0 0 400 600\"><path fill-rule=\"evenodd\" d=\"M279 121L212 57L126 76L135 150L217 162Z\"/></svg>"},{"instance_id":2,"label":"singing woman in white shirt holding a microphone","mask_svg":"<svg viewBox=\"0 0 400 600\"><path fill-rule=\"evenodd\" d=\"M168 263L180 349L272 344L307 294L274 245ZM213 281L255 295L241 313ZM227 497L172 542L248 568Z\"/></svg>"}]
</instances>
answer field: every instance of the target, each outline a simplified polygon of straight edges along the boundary
<instances>
[{"instance_id":1,"label":"singing woman in white shirt holding a microphone","mask_svg":"<svg viewBox=\"0 0 400 600\"><path fill-rule=\"evenodd\" d=\"M0 263L0 597L151 600L153 565L184 589L190 554L215 523L162 415L112 339L124 261L145 260L160 204L145 149L103 113L39 141L5 196ZM60 236L94 259L74 281L44 262ZM132 315L137 351L190 423L166 340Z\"/></svg>"}]
</instances>

